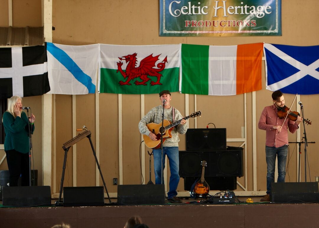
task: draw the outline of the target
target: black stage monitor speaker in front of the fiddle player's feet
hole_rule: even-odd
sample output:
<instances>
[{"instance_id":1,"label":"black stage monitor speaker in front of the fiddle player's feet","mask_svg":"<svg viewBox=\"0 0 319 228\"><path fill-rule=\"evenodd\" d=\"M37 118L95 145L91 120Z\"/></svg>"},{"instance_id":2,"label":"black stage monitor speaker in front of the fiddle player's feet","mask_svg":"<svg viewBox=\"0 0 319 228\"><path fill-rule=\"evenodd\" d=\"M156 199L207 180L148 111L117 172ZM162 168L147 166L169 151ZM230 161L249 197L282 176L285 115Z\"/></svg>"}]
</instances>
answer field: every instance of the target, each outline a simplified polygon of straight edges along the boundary
<instances>
[{"instance_id":1,"label":"black stage monitor speaker in front of the fiddle player's feet","mask_svg":"<svg viewBox=\"0 0 319 228\"><path fill-rule=\"evenodd\" d=\"M319 202L318 182L271 183L271 202L276 202L276 203Z\"/></svg>"}]
</instances>

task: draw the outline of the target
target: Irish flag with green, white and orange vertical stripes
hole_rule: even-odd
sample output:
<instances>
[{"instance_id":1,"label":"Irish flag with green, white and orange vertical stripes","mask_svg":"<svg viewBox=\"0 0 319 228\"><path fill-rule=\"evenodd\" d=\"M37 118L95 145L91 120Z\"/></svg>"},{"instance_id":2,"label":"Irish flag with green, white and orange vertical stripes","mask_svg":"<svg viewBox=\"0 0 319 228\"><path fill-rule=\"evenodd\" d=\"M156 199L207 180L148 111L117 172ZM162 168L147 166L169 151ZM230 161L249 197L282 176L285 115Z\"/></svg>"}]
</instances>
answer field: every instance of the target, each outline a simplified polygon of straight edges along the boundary
<instances>
[{"instance_id":1,"label":"Irish flag with green, white and orange vertical stripes","mask_svg":"<svg viewBox=\"0 0 319 228\"><path fill-rule=\"evenodd\" d=\"M181 93L236 95L260 90L263 43L182 44Z\"/></svg>"}]
</instances>

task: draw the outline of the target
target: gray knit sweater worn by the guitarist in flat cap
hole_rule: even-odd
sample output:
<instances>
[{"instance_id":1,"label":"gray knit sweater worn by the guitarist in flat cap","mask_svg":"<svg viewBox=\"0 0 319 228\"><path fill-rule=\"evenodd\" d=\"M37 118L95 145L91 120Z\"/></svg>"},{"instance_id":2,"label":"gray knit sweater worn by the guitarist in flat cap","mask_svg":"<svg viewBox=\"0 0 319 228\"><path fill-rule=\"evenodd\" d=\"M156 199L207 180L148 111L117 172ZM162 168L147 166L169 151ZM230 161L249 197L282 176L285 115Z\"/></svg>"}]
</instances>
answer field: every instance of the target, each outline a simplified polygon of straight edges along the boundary
<instances>
[{"instance_id":1,"label":"gray knit sweater worn by the guitarist in flat cap","mask_svg":"<svg viewBox=\"0 0 319 228\"><path fill-rule=\"evenodd\" d=\"M141 134L149 135L151 132L148 130L146 124L156 123L159 124L162 122L162 113L163 106L159 105L152 108L138 123L138 128ZM181 113L175 109L175 119L173 121L173 107L170 109L164 109L164 119L169 120L171 123L176 122L182 119ZM174 126L172 133L172 138L169 138L164 141L164 147L178 147L179 137L178 133L185 134L187 131L187 124L178 124Z\"/></svg>"}]
</instances>

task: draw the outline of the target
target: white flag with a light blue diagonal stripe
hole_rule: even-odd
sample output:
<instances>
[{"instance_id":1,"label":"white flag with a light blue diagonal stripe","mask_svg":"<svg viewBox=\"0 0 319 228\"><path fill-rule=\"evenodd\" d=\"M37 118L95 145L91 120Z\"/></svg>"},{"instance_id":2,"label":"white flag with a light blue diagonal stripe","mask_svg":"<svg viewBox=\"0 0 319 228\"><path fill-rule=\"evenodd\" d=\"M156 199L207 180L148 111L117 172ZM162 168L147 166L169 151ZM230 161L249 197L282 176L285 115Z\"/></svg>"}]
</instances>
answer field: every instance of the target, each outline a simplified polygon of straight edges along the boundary
<instances>
[{"instance_id":1,"label":"white flag with a light blue diagonal stripe","mask_svg":"<svg viewBox=\"0 0 319 228\"><path fill-rule=\"evenodd\" d=\"M99 45L47 43L51 94L95 93Z\"/></svg>"}]
</instances>

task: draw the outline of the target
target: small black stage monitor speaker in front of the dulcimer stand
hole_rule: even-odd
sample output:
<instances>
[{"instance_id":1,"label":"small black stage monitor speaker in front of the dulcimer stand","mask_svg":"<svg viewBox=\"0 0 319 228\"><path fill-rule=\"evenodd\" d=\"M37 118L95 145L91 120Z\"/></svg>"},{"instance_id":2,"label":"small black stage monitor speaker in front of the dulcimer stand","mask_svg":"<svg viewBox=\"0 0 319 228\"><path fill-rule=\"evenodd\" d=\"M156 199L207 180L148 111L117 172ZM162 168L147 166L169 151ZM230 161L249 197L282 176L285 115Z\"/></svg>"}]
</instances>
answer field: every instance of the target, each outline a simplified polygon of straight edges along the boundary
<instances>
[{"instance_id":1,"label":"small black stage monitor speaker in front of the dulcimer stand","mask_svg":"<svg viewBox=\"0 0 319 228\"><path fill-rule=\"evenodd\" d=\"M104 206L104 188L63 187L63 206Z\"/></svg>"}]
</instances>

